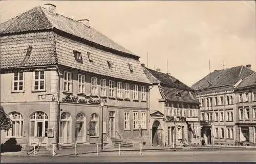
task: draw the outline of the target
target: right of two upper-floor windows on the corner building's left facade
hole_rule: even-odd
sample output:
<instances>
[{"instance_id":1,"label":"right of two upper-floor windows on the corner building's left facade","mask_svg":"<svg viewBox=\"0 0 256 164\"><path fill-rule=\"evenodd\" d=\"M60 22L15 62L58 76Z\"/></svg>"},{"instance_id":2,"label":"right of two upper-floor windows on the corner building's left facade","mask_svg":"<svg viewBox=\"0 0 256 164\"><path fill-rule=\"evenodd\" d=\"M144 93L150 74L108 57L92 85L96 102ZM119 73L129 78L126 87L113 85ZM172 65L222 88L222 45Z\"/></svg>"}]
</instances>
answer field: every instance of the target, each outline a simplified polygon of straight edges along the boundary
<instances>
[{"instance_id":1,"label":"right of two upper-floor windows on the corner building's left facade","mask_svg":"<svg viewBox=\"0 0 256 164\"><path fill-rule=\"evenodd\" d=\"M33 90L45 90L45 71L35 71L33 75Z\"/></svg>"}]
</instances>

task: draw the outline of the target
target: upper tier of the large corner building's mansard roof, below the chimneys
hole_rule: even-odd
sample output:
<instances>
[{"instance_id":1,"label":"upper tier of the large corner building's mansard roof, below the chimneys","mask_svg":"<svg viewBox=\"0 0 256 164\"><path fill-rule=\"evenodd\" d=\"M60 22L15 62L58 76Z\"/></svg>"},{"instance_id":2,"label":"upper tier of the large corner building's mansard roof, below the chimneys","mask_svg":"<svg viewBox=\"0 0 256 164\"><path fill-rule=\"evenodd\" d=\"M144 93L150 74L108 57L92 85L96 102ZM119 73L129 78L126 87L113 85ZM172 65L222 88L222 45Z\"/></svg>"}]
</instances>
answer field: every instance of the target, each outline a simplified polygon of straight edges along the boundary
<instances>
[{"instance_id":1,"label":"upper tier of the large corner building's mansard roof, below the chimneys","mask_svg":"<svg viewBox=\"0 0 256 164\"><path fill-rule=\"evenodd\" d=\"M0 25L0 33L6 34L52 28L56 28L102 46L136 56L134 53L115 43L113 40L101 34L94 28L88 28L79 21L60 14L54 14L40 6L34 7L33 9L2 23Z\"/></svg>"}]
</instances>

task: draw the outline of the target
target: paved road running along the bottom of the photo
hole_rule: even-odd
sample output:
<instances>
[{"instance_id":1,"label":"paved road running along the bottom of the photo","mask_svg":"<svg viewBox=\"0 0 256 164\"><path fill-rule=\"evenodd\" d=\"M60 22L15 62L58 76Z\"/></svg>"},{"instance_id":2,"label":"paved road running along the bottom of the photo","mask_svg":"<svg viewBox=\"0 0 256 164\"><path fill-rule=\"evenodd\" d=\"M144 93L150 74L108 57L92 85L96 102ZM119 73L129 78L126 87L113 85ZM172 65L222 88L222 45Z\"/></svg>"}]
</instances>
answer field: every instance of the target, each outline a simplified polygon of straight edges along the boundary
<instances>
[{"instance_id":1,"label":"paved road running along the bottom of the photo","mask_svg":"<svg viewBox=\"0 0 256 164\"><path fill-rule=\"evenodd\" d=\"M101 153L98 156L83 154L76 157L8 157L2 156L2 162L164 162L164 161L256 161L255 150L237 151L155 151L125 152L118 155L116 152Z\"/></svg>"}]
</instances>

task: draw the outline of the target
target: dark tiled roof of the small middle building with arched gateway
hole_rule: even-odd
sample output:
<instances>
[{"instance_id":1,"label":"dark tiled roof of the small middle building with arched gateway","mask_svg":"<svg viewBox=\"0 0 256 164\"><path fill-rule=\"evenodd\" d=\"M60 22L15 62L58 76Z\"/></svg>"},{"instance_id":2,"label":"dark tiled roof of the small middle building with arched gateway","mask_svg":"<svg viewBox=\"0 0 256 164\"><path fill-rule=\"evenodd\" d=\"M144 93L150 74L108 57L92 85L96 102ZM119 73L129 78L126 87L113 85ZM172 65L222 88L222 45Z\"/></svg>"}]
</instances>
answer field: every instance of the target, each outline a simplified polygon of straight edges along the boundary
<instances>
[{"instance_id":1,"label":"dark tiled roof of the small middle building with arched gateway","mask_svg":"<svg viewBox=\"0 0 256 164\"><path fill-rule=\"evenodd\" d=\"M161 93L165 99L177 102L200 103L197 98L190 96L189 92L193 91L193 89L179 81L177 78L146 67L142 68L151 83L160 85ZM181 96L178 96L178 93L180 93Z\"/></svg>"}]
</instances>

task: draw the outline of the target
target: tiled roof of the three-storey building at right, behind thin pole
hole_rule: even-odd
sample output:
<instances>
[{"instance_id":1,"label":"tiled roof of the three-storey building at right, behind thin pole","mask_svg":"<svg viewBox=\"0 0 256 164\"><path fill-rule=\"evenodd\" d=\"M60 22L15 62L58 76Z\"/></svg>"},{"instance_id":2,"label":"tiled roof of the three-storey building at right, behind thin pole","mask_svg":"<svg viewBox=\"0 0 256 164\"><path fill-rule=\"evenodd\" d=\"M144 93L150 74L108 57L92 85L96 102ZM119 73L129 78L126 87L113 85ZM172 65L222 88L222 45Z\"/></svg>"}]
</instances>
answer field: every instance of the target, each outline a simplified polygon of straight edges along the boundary
<instances>
[{"instance_id":1,"label":"tiled roof of the three-storey building at right, behind thin pole","mask_svg":"<svg viewBox=\"0 0 256 164\"><path fill-rule=\"evenodd\" d=\"M254 73L254 71L248 69L245 66L237 66L229 69L218 70L210 73L197 83L192 85L194 90L201 90L210 87L220 87L224 85L233 85L241 78L245 78ZM210 78L209 78L210 77ZM211 86L209 85L209 79L211 79Z\"/></svg>"}]
</instances>

